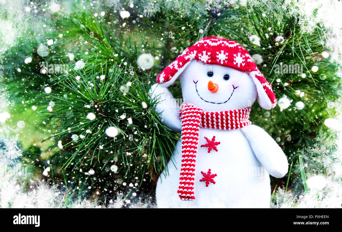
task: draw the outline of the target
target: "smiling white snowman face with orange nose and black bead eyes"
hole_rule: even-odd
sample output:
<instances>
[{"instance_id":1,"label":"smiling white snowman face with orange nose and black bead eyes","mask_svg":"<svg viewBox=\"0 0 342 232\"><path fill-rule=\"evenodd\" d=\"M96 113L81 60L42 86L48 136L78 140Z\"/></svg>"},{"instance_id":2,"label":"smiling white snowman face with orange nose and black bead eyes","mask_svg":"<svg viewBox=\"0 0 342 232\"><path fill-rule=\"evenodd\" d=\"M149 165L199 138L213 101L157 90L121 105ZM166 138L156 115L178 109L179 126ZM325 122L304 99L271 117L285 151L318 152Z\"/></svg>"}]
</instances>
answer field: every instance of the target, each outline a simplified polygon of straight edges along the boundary
<instances>
[{"instance_id":1,"label":"smiling white snowman face with orange nose and black bead eyes","mask_svg":"<svg viewBox=\"0 0 342 232\"><path fill-rule=\"evenodd\" d=\"M180 75L183 99L204 111L228 111L250 107L257 88L244 72L193 60Z\"/></svg>"}]
</instances>

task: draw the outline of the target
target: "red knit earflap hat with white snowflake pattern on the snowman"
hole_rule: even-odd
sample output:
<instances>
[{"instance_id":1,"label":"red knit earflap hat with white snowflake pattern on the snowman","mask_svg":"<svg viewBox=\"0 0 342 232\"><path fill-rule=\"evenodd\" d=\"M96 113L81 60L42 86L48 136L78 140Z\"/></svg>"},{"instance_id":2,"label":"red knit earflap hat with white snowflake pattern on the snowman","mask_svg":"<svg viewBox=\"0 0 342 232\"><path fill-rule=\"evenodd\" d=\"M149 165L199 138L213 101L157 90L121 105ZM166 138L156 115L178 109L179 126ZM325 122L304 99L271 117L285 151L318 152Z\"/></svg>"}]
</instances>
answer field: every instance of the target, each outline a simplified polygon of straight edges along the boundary
<instances>
[{"instance_id":1,"label":"red knit earflap hat with white snowflake pattern on the snowman","mask_svg":"<svg viewBox=\"0 0 342 232\"><path fill-rule=\"evenodd\" d=\"M170 86L192 60L207 64L217 64L248 73L258 91L258 102L265 109L274 108L277 104L271 84L260 73L248 51L233 40L219 37L206 37L184 50L157 77L163 87Z\"/></svg>"}]
</instances>

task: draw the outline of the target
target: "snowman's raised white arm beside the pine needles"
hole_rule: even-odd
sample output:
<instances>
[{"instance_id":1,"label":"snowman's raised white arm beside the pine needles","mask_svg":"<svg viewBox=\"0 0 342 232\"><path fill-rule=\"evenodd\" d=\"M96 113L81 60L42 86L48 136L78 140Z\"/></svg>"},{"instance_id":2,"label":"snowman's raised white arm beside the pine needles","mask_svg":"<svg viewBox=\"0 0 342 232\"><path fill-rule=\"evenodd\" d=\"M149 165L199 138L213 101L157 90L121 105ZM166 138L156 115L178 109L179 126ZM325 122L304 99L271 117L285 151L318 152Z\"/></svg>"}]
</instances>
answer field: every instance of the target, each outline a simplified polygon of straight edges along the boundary
<instances>
[{"instance_id":1,"label":"snowman's raised white arm beside the pine needles","mask_svg":"<svg viewBox=\"0 0 342 232\"><path fill-rule=\"evenodd\" d=\"M161 122L171 130L180 132L182 123L179 119L179 103L173 98L171 92L167 88L154 84L149 94L152 99L158 99L156 112L161 114Z\"/></svg>"}]
</instances>

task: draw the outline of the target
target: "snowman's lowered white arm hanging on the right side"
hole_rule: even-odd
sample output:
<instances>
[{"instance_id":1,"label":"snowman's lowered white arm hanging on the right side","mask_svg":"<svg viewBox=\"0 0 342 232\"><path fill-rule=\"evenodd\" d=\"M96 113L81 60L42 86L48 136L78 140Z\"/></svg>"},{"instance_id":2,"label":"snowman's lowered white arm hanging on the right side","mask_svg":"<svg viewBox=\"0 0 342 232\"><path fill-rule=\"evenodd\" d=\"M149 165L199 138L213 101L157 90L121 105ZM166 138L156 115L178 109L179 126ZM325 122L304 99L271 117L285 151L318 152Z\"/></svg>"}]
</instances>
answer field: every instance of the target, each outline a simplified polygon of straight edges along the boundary
<instances>
[{"instance_id":1,"label":"snowman's lowered white arm hanging on the right side","mask_svg":"<svg viewBox=\"0 0 342 232\"><path fill-rule=\"evenodd\" d=\"M266 131L255 125L249 125L240 130L267 172L277 178L285 176L289 164L277 142Z\"/></svg>"}]
</instances>

